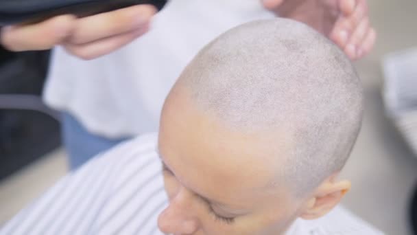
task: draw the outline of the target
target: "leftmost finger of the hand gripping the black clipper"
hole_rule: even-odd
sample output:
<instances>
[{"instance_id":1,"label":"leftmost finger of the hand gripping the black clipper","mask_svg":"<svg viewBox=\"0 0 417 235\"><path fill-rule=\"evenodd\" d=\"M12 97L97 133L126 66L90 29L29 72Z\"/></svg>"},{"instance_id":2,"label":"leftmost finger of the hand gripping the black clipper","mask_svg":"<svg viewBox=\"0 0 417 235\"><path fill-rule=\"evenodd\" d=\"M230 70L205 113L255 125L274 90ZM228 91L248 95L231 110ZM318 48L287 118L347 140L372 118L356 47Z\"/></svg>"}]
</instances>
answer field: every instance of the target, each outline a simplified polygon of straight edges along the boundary
<instances>
[{"instance_id":1,"label":"leftmost finger of the hand gripping the black clipper","mask_svg":"<svg viewBox=\"0 0 417 235\"><path fill-rule=\"evenodd\" d=\"M3 27L0 43L15 52L50 49L71 34L75 21L75 16L62 15L32 25Z\"/></svg>"}]
</instances>

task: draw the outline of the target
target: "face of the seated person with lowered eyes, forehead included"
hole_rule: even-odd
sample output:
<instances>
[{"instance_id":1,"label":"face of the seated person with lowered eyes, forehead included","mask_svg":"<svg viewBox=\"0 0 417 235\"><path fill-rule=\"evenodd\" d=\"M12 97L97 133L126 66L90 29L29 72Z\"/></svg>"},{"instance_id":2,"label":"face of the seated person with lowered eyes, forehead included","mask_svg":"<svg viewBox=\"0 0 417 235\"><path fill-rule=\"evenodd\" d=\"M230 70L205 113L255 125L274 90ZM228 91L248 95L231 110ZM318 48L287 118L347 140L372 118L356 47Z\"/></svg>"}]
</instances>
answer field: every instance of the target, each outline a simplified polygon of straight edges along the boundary
<instances>
[{"instance_id":1,"label":"face of the seated person with lowered eyes, forehead included","mask_svg":"<svg viewBox=\"0 0 417 235\"><path fill-rule=\"evenodd\" d=\"M274 154L285 155L285 144L275 145ZM158 147L169 196L169 206L158 219L160 230L283 234L301 205L283 183L270 185L278 161L271 149L259 135L227 130L184 96L169 98Z\"/></svg>"}]
</instances>

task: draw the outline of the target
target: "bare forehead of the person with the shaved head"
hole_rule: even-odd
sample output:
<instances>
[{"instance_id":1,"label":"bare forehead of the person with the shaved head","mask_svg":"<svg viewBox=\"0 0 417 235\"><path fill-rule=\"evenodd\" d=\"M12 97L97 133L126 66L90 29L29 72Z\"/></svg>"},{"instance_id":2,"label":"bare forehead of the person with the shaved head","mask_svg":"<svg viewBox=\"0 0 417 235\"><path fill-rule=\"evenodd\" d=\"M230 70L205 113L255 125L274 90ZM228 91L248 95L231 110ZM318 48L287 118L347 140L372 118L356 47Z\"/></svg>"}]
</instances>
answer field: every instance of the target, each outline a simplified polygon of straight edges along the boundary
<instances>
[{"instance_id":1,"label":"bare forehead of the person with the shaved head","mask_svg":"<svg viewBox=\"0 0 417 235\"><path fill-rule=\"evenodd\" d=\"M267 186L280 168L277 155L285 155L284 138L274 142L259 134L230 131L181 103L164 109L159 139L161 157L178 180L226 202L245 203L270 192ZM274 188L274 193L281 189Z\"/></svg>"}]
</instances>

